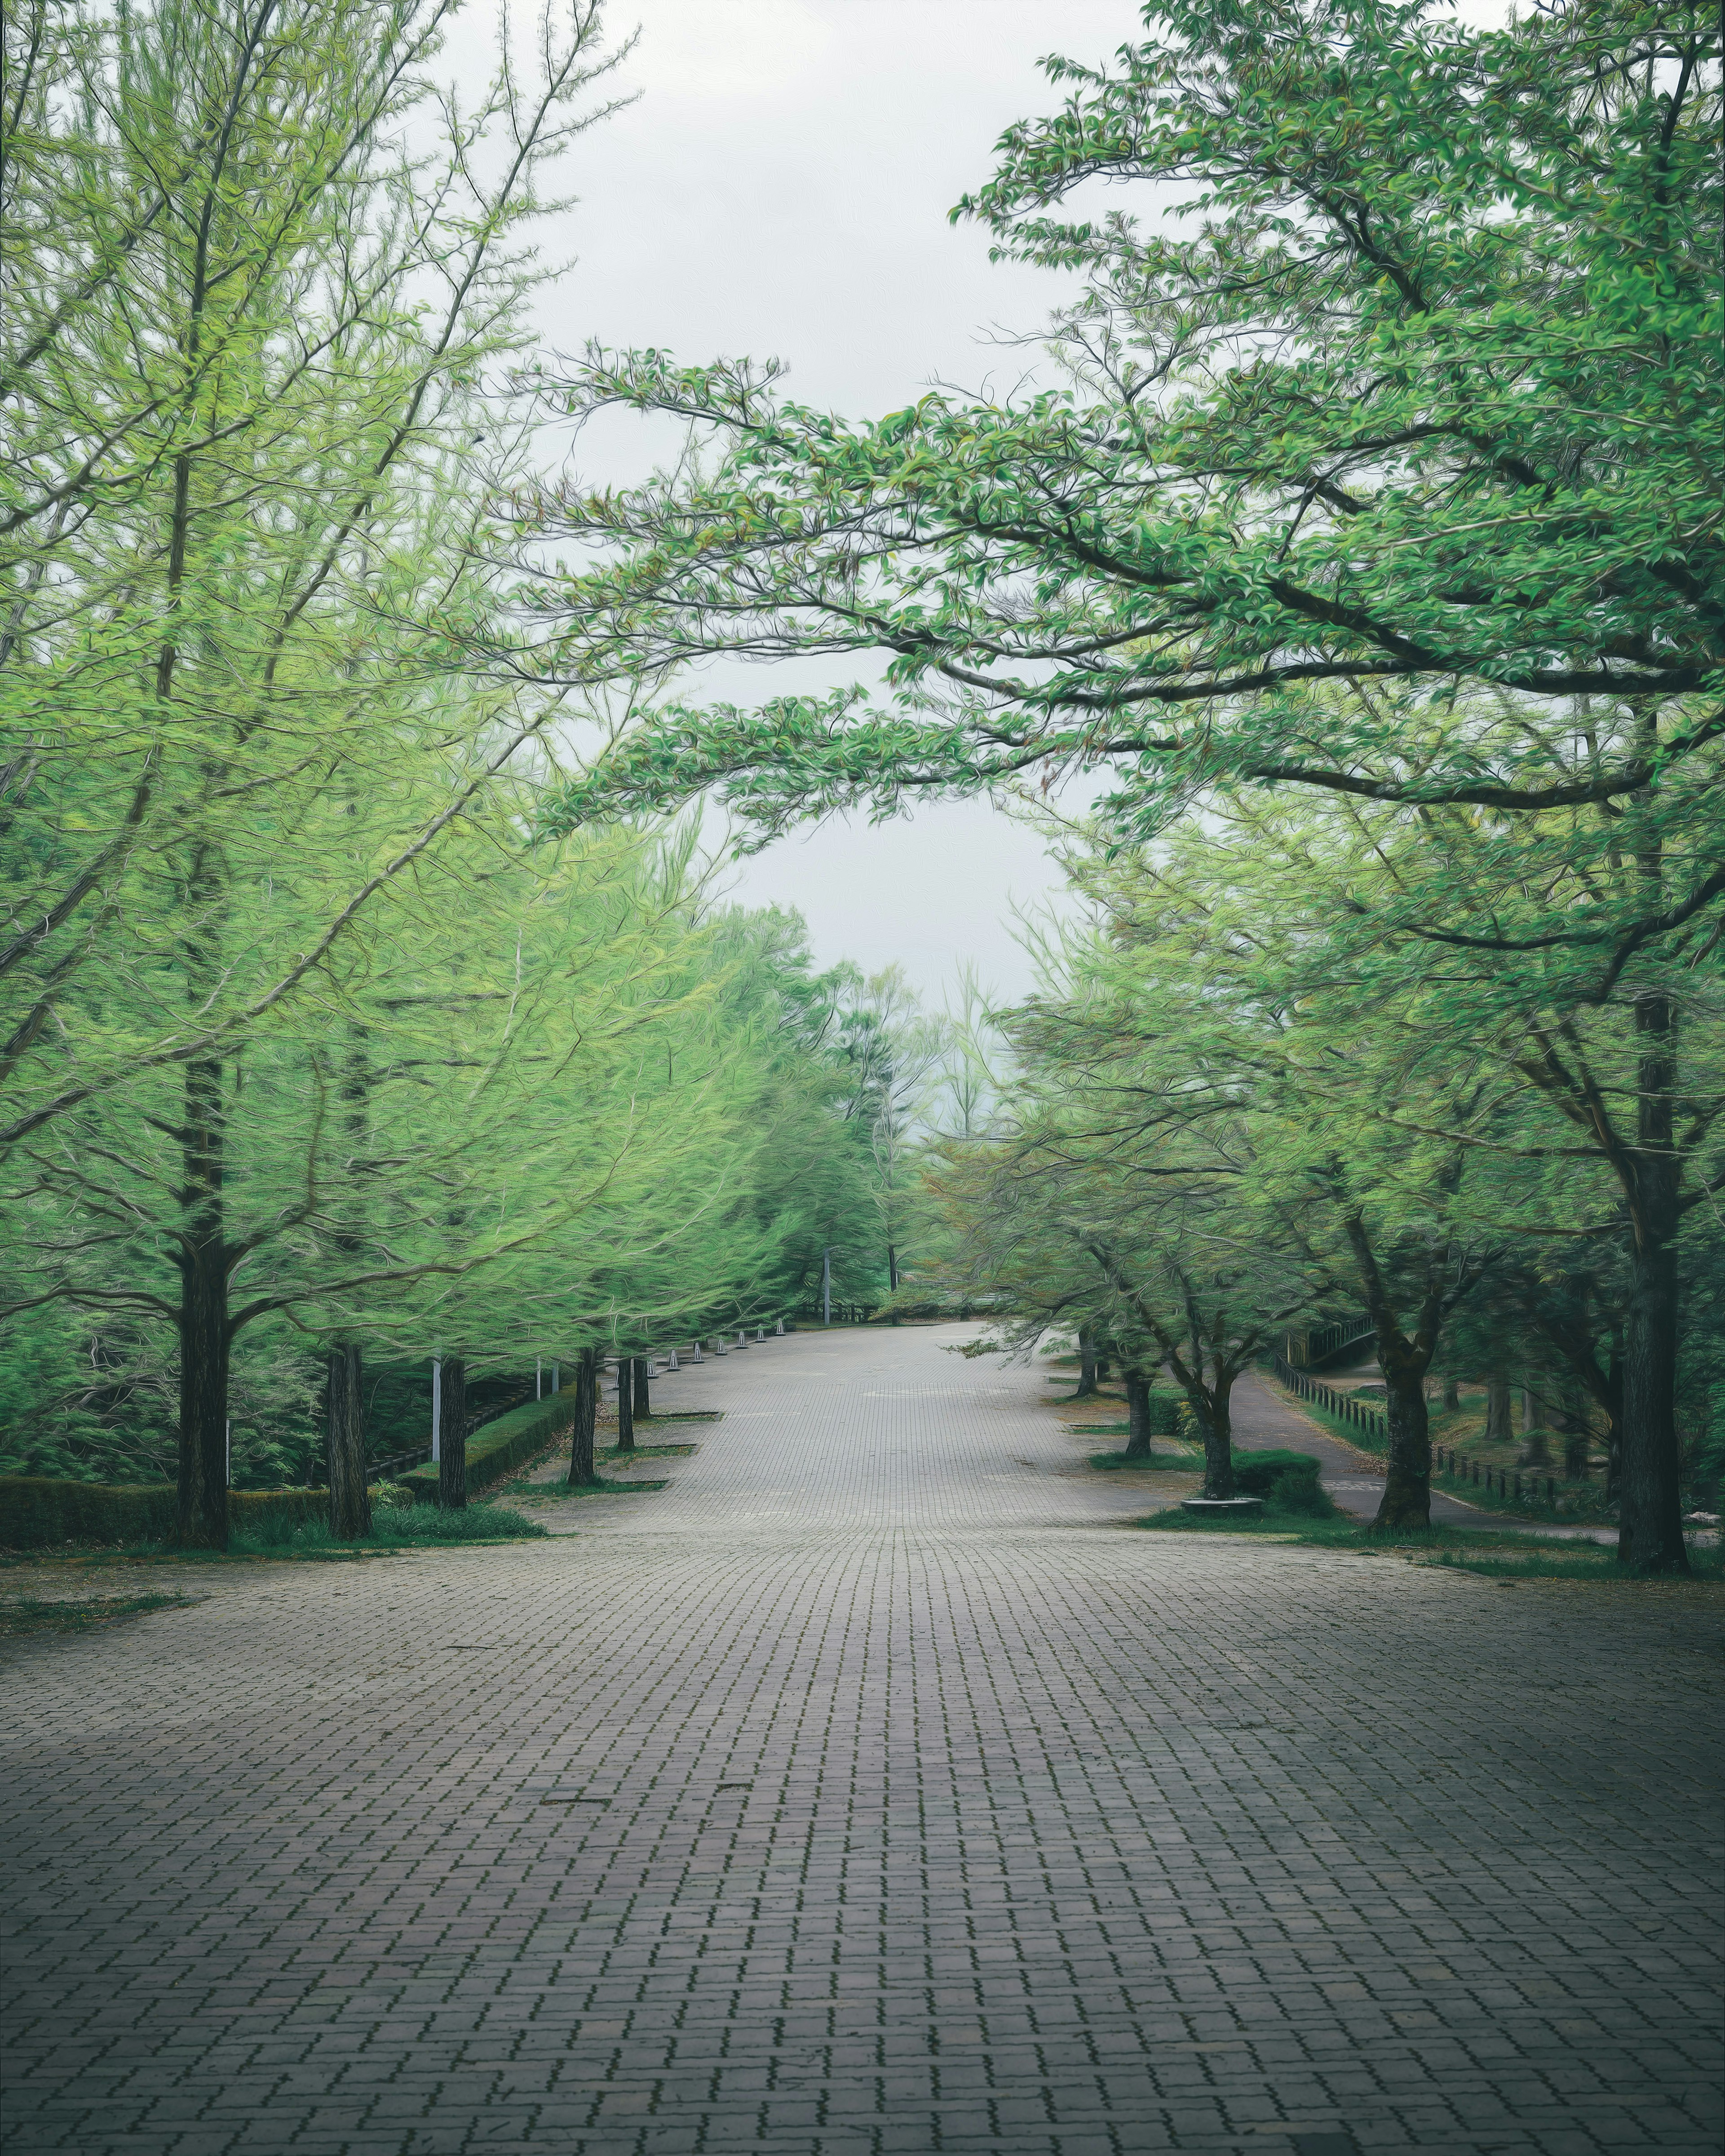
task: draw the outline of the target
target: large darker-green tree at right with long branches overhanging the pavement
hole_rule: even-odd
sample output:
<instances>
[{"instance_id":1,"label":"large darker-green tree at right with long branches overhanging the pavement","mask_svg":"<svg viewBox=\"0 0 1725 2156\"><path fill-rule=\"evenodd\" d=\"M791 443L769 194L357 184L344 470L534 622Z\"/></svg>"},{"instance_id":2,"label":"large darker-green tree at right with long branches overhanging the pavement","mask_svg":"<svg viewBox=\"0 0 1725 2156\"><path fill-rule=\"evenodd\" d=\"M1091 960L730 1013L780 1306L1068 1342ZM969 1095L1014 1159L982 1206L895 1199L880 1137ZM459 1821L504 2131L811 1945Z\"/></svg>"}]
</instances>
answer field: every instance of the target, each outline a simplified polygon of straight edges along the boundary
<instances>
[{"instance_id":1,"label":"large darker-green tree at right with long branches overhanging the pavement","mask_svg":"<svg viewBox=\"0 0 1725 2156\"><path fill-rule=\"evenodd\" d=\"M718 785L772 832L1108 772L1126 847L1268 791L1279 897L1307 802L1289 1007L1374 1013L1376 1106L1417 1106L1371 1145L1395 1130L1434 1203L1449 1177L1445 1218L1471 1207L1455 1175L1492 1179L1471 1162L1514 1162L1505 1222L1563 1233L1546 1201L1591 1162L1585 1235L1613 1216L1628 1283L1624 1554L1682 1565L1684 1248L1725 1173L1716 13L1177 4L1110 67L1048 71L1065 101L1009 129L960 213L1082 278L1052 330L1067 386L867 425L785 401L772 369L658 351L558 388L578 414L677 414L714 453L541 494L537 533L617 556L565 582L550 677L891 660L884 696L666 703L558 813ZM1065 207L1098 181L1154 188L1154 222ZM1339 1100L1322 1059L1298 1076ZM1449 1235L1410 1194L1393 1212L1397 1238ZM1382 1304L1414 1511L1414 1365L1466 1242L1393 1324ZM1363 1248L1354 1272L1365 1291Z\"/></svg>"}]
</instances>

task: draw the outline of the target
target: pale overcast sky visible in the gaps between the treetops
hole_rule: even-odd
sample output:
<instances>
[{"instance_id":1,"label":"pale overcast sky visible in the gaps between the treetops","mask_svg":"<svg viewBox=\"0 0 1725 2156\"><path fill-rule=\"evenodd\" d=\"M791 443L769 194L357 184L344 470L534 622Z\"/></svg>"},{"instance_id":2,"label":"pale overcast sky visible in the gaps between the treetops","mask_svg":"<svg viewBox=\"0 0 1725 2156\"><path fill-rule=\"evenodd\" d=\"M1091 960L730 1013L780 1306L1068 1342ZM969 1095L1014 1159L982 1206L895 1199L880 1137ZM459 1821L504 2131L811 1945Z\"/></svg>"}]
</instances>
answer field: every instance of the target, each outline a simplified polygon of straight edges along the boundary
<instances>
[{"instance_id":1,"label":"pale overcast sky visible in the gaps between the treetops","mask_svg":"<svg viewBox=\"0 0 1725 2156\"><path fill-rule=\"evenodd\" d=\"M774 356L804 403L865 416L932 382L1016 384L1061 298L1048 274L992 265L979 226L947 222L1016 119L1050 108L1037 58L1106 58L1130 0L647 0L625 82L643 93L580 144L571 274L546 341L658 345L686 360ZM565 235L558 235L565 239ZM664 436L615 416L580 444L595 479L645 476ZM822 683L824 686L822 677ZM817 686L727 668L694 694L761 701ZM1041 843L988 802L875 830L826 824L737 871L750 901L796 906L822 964L899 959L936 1005L962 962L1000 994L1029 985L1011 908L1057 888Z\"/></svg>"}]
</instances>

